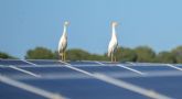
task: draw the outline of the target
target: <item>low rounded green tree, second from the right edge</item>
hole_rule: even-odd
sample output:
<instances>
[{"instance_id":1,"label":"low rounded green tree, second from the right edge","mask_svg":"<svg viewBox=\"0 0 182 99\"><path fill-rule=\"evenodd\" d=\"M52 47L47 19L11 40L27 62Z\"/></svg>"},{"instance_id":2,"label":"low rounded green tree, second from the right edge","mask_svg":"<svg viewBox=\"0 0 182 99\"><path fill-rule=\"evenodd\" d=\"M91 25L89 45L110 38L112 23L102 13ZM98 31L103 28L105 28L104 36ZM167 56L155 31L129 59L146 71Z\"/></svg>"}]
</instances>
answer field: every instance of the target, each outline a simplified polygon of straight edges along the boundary
<instances>
[{"instance_id":1,"label":"low rounded green tree, second from the right edge","mask_svg":"<svg viewBox=\"0 0 182 99\"><path fill-rule=\"evenodd\" d=\"M157 57L156 62L158 63L176 63L174 54L170 52L160 52Z\"/></svg>"}]
</instances>

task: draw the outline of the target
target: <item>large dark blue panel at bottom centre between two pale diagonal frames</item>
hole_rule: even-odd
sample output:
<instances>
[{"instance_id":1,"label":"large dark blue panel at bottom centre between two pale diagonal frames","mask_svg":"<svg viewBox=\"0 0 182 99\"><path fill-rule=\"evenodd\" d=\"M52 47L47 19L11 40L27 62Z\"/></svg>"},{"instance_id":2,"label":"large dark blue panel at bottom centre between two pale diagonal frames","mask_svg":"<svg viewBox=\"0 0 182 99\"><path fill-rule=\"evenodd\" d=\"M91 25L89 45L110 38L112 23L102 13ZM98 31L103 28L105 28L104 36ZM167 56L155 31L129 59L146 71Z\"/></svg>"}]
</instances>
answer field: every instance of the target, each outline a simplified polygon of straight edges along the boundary
<instances>
[{"instance_id":1,"label":"large dark blue panel at bottom centre between two pale diagonal frames","mask_svg":"<svg viewBox=\"0 0 182 99\"><path fill-rule=\"evenodd\" d=\"M23 80L45 90L62 94L71 99L146 99L136 92L97 79Z\"/></svg>"}]
</instances>

